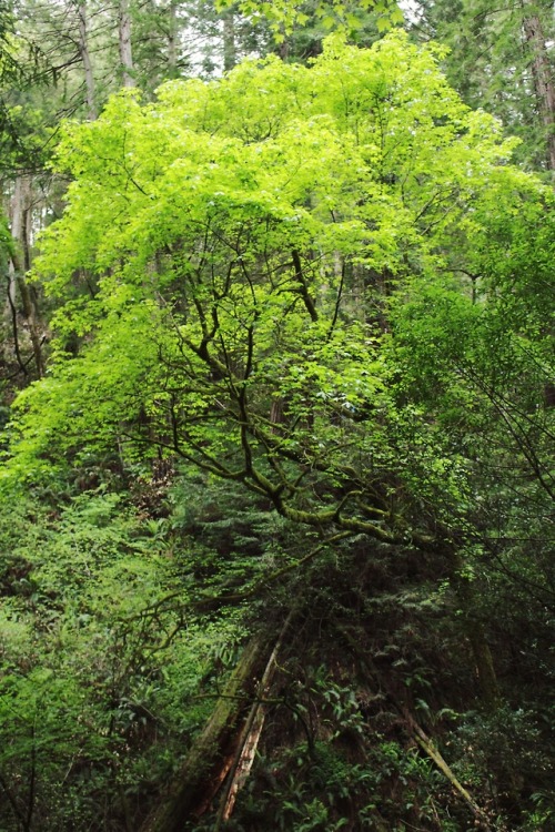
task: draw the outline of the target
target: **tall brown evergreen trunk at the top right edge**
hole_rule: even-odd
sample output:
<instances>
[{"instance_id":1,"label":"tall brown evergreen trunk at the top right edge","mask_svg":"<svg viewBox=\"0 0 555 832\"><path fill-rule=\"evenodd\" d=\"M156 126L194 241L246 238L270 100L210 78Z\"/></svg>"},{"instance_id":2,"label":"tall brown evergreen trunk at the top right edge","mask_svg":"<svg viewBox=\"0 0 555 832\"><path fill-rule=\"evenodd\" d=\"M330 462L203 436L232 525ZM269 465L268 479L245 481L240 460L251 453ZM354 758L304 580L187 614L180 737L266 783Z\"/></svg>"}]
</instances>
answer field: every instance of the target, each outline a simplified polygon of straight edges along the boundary
<instances>
[{"instance_id":1,"label":"tall brown evergreen trunk at the top right edge","mask_svg":"<svg viewBox=\"0 0 555 832\"><path fill-rule=\"evenodd\" d=\"M532 75L536 93L537 106L545 126L547 141L547 165L555 171L555 87L553 73L547 55L545 34L542 21L533 11L528 2L524 6L524 34L532 55Z\"/></svg>"}]
</instances>

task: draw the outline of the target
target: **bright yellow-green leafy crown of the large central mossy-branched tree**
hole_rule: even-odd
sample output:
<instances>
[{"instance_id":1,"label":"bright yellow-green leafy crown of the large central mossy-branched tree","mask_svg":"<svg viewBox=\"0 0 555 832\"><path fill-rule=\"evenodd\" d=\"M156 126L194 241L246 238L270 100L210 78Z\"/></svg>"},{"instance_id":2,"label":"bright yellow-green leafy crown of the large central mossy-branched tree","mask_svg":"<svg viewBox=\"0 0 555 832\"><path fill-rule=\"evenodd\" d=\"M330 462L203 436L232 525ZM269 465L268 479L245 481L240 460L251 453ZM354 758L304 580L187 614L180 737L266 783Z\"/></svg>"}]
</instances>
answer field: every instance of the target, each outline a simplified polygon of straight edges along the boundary
<instances>
[{"instance_id":1,"label":"bright yellow-green leafy crown of the large central mossy-branched tree","mask_svg":"<svg viewBox=\"0 0 555 832\"><path fill-rule=\"evenodd\" d=\"M294 485L306 466L340 486L353 446L364 491L372 465L412 454L380 351L386 297L466 263L480 212L538 185L498 166L512 143L402 34L367 51L335 37L310 69L246 62L159 97L122 94L65 130L75 181L38 264L65 300L58 361L20 398L13 465L36 476L62 451L118 438L132 461L158 445L293 517L314 500ZM370 531L394 534L367 510Z\"/></svg>"}]
</instances>

